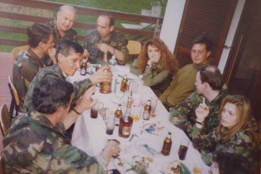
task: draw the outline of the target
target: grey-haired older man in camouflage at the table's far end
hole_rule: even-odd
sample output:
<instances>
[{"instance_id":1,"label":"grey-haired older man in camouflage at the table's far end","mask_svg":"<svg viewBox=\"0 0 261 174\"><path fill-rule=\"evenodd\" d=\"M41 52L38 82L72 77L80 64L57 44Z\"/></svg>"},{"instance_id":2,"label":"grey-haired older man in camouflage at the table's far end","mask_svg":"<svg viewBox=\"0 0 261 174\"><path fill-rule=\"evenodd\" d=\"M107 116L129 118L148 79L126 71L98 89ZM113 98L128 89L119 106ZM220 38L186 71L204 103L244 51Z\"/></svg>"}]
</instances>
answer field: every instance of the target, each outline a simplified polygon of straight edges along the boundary
<instances>
[{"instance_id":1,"label":"grey-haired older man in camouflage at the table's far end","mask_svg":"<svg viewBox=\"0 0 261 174\"><path fill-rule=\"evenodd\" d=\"M76 20L76 9L70 5L63 5L59 8L57 12L57 17L55 20L46 23L49 27L53 29L54 35L54 48L50 50L50 57L44 57L44 63L46 65L55 64L55 51L58 44L65 40L74 40L77 41L77 31L72 29L74 22ZM51 58L51 59L50 59Z\"/></svg>"}]
</instances>

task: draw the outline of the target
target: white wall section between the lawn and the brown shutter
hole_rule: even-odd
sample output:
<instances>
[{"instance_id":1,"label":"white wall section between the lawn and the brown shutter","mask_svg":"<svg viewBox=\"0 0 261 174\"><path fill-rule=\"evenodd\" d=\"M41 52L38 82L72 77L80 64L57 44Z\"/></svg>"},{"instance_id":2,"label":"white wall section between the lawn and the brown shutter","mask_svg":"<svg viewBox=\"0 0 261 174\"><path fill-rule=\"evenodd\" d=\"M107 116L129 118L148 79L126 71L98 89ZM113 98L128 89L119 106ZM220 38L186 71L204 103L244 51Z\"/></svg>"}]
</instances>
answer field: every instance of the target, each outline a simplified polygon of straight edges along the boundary
<instances>
[{"instance_id":1,"label":"white wall section between the lawn and the brown shutter","mask_svg":"<svg viewBox=\"0 0 261 174\"><path fill-rule=\"evenodd\" d=\"M173 53L186 0L168 0L160 39Z\"/></svg>"}]
</instances>

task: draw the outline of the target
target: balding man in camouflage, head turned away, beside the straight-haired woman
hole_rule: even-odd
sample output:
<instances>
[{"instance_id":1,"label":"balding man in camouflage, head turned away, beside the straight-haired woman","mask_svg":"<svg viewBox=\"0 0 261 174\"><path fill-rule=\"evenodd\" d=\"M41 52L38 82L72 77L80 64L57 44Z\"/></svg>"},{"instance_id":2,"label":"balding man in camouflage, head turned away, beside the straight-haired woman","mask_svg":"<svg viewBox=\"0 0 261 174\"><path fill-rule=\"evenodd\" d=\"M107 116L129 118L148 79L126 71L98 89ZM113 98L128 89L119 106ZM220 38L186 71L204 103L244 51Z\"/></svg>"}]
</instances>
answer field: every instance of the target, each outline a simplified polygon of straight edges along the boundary
<instances>
[{"instance_id":1,"label":"balding man in camouflage, head turned away, beside the straight-haired woman","mask_svg":"<svg viewBox=\"0 0 261 174\"><path fill-rule=\"evenodd\" d=\"M192 139L193 126L197 116L195 110L200 103L206 103L209 107L209 115L205 121L199 123L203 126L202 132L208 134L214 129L218 121L218 112L221 101L228 95L228 88L223 82L219 69L215 66L201 67L197 72L195 86L197 90L183 102L178 103L170 110L169 120L173 125L183 130Z\"/></svg>"}]
</instances>

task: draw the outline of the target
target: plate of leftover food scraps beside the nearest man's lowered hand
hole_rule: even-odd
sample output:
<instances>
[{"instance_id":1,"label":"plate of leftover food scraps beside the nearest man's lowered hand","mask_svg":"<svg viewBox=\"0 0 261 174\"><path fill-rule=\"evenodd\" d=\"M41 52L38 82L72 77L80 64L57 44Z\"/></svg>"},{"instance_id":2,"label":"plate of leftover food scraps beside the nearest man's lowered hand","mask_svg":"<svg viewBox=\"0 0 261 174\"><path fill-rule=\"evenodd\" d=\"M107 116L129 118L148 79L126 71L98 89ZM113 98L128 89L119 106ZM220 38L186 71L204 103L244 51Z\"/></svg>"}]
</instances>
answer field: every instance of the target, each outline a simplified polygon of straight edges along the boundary
<instances>
[{"instance_id":1,"label":"plate of leftover food scraps beside the nearest man's lowered hand","mask_svg":"<svg viewBox=\"0 0 261 174\"><path fill-rule=\"evenodd\" d=\"M153 159L150 157L125 154L117 156L114 159L114 165L117 170L121 173L127 174L136 174L135 170L137 164L141 163L147 168L148 172L151 171Z\"/></svg>"}]
</instances>

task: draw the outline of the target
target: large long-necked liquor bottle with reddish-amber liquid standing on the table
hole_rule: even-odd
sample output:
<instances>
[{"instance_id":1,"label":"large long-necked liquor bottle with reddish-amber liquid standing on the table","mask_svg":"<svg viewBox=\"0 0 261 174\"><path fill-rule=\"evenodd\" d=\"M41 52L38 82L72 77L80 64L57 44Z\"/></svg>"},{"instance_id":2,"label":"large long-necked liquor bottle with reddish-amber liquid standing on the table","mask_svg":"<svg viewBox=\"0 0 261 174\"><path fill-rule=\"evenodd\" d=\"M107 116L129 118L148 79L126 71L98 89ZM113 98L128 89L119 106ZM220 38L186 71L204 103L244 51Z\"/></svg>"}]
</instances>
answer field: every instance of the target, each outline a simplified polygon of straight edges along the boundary
<instances>
[{"instance_id":1,"label":"large long-necked liquor bottle with reddish-amber liquid standing on the table","mask_svg":"<svg viewBox=\"0 0 261 174\"><path fill-rule=\"evenodd\" d=\"M130 117L130 107L131 96L128 97L126 112L124 113L124 116L120 118L119 136L123 138L128 138L130 136L130 131L133 123L133 119Z\"/></svg>"}]
</instances>

